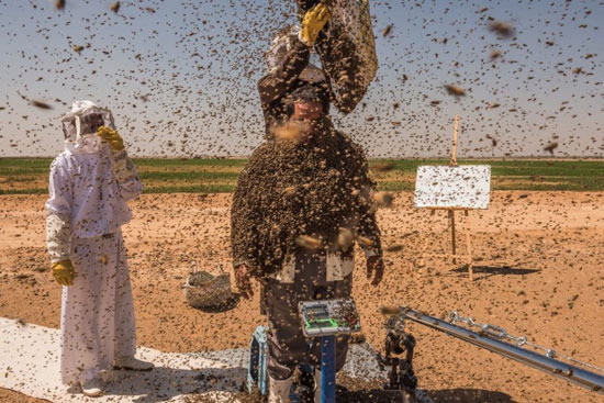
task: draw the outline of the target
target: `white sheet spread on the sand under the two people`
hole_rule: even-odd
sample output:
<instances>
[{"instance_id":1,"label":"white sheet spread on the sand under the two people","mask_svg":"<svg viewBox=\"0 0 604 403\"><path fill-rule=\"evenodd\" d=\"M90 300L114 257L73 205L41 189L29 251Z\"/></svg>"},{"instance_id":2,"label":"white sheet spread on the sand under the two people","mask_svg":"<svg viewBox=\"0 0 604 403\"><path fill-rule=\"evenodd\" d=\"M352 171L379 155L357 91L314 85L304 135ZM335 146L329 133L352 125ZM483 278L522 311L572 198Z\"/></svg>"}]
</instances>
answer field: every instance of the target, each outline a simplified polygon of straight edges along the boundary
<instances>
[{"instance_id":1,"label":"white sheet spread on the sand under the two people","mask_svg":"<svg viewBox=\"0 0 604 403\"><path fill-rule=\"evenodd\" d=\"M187 402L192 393L209 401L233 402L247 377L247 349L178 354L138 347L137 357L153 361L156 368L150 372L108 371L103 373L105 394L89 399L70 393L60 383L59 338L58 329L0 317L0 388L55 403ZM350 346L344 370L350 378L387 376L368 345Z\"/></svg>"}]
</instances>

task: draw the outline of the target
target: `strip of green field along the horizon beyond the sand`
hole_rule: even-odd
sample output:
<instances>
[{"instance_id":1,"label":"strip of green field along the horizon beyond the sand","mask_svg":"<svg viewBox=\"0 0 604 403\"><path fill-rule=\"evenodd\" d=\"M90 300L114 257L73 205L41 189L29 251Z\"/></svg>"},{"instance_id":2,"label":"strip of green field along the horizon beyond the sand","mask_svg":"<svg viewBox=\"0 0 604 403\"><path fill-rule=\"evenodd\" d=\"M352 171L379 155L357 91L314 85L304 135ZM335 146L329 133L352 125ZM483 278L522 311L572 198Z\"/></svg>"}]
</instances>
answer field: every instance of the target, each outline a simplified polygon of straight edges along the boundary
<instances>
[{"instance_id":1,"label":"strip of green field along the horizon beyond the sand","mask_svg":"<svg viewBox=\"0 0 604 403\"><path fill-rule=\"evenodd\" d=\"M47 192L49 158L1 158L0 194ZM230 192L247 159L135 158L145 193ZM412 191L422 165L447 159L370 159L378 189ZM490 165L493 190L604 191L604 160L462 159L460 165ZM21 188L21 189L20 189Z\"/></svg>"}]
</instances>

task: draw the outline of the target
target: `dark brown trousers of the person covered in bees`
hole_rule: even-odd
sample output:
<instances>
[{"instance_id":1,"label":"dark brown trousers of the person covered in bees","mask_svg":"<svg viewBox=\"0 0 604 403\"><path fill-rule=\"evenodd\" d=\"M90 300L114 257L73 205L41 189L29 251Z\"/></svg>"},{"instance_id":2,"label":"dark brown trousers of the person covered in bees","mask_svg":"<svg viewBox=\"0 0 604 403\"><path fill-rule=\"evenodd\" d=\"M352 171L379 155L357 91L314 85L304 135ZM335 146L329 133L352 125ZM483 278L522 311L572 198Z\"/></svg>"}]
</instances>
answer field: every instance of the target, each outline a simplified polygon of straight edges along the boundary
<instances>
[{"instance_id":1,"label":"dark brown trousers of the person covered in bees","mask_svg":"<svg viewBox=\"0 0 604 403\"><path fill-rule=\"evenodd\" d=\"M306 339L302 333L298 302L350 296L353 275L342 281L326 281L325 255L299 253L295 257L293 283L269 279L265 303L270 335L268 337L268 372L271 378L284 380L307 357L318 368L320 339ZM348 352L348 335L336 338L336 371L344 367ZM312 346L309 348L309 342Z\"/></svg>"}]
</instances>

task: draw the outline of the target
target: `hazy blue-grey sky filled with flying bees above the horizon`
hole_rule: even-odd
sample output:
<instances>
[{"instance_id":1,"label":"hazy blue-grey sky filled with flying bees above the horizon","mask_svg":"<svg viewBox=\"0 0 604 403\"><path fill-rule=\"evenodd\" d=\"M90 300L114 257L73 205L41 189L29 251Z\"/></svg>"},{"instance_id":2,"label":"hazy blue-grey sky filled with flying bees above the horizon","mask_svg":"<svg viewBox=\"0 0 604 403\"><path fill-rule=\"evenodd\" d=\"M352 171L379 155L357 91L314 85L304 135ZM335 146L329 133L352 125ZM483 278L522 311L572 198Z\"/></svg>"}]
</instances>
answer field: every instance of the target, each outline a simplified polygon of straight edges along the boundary
<instances>
[{"instance_id":1,"label":"hazy blue-grey sky filled with flying bees above the horizon","mask_svg":"<svg viewBox=\"0 0 604 403\"><path fill-rule=\"evenodd\" d=\"M133 155L248 155L262 56L294 3L113 2L0 0L0 157L58 154L76 99L112 109ZM604 1L370 4L377 79L351 114L333 110L370 156L447 157L455 114L460 157L604 156Z\"/></svg>"}]
</instances>

